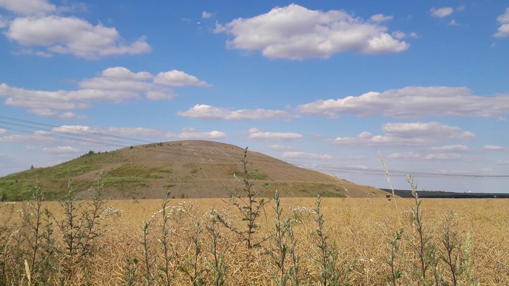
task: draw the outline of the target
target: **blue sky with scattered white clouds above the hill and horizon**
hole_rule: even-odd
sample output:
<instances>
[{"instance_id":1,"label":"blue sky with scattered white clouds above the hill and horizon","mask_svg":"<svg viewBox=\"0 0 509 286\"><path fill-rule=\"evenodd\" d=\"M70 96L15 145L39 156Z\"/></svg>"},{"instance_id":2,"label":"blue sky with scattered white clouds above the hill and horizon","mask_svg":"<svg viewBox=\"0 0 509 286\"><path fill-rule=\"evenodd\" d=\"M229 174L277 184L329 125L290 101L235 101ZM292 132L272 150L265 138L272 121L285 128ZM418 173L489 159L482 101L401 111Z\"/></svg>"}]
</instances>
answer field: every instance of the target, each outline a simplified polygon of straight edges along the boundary
<instances>
[{"instance_id":1,"label":"blue sky with scattered white clouds above the hill and horizon","mask_svg":"<svg viewBox=\"0 0 509 286\"><path fill-rule=\"evenodd\" d=\"M506 1L0 0L0 176L207 139L509 192L507 67Z\"/></svg>"}]
</instances>

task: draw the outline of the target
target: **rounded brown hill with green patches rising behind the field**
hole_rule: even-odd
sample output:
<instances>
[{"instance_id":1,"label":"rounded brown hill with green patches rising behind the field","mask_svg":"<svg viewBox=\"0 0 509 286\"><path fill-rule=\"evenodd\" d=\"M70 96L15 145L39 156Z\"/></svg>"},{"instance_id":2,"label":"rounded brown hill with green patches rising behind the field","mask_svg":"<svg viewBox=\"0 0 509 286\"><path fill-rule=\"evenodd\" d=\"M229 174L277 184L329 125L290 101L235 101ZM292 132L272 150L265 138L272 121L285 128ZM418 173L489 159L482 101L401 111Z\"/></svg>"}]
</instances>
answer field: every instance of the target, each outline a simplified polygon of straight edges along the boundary
<instances>
[{"instance_id":1,"label":"rounded brown hill with green patches rising behind the field","mask_svg":"<svg viewBox=\"0 0 509 286\"><path fill-rule=\"evenodd\" d=\"M4 200L27 199L36 184L45 199L58 199L72 187L81 194L96 184L102 171L109 198L162 198L167 191L175 197L227 197L230 189L240 189L234 174L241 173L244 149L204 140L161 142L95 153L47 168L34 168L0 178ZM336 179L318 171L303 169L273 157L248 151L247 167L255 187L270 196L277 189L282 196L384 196L384 192Z\"/></svg>"}]
</instances>

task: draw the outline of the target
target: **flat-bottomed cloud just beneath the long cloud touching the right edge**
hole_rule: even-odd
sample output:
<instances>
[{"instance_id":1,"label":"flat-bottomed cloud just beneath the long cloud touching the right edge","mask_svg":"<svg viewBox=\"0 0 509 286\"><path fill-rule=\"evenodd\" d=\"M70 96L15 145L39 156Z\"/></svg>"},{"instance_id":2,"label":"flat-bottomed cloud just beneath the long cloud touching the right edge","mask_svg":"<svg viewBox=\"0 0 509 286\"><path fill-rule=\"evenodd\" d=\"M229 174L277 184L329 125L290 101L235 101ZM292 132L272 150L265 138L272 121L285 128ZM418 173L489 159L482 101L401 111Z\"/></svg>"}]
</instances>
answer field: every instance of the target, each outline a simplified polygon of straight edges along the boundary
<instances>
[{"instance_id":1,"label":"flat-bottomed cloud just beneath the long cloud touching the right edge","mask_svg":"<svg viewBox=\"0 0 509 286\"><path fill-rule=\"evenodd\" d=\"M337 137L332 142L346 146L426 146L449 140L471 140L475 134L438 122L386 123L384 135L361 132L355 137Z\"/></svg>"}]
</instances>

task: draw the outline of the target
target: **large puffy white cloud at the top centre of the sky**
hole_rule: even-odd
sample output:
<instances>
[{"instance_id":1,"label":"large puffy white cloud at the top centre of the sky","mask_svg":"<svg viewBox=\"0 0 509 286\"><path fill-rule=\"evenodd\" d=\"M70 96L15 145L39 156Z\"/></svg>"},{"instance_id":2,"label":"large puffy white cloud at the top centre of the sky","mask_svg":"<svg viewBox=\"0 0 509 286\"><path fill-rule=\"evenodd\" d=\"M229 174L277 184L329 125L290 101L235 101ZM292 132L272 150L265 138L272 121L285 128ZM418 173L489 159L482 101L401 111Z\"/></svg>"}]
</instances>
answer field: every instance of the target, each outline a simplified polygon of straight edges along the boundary
<instances>
[{"instance_id":1,"label":"large puffy white cloud at the top centre of the sky","mask_svg":"<svg viewBox=\"0 0 509 286\"><path fill-rule=\"evenodd\" d=\"M386 16L375 16L375 19ZM261 50L271 59L328 58L338 52L386 53L409 48L387 34L387 27L355 18L344 11L308 10L296 4L266 14L217 24L216 33L233 39L229 48Z\"/></svg>"}]
</instances>

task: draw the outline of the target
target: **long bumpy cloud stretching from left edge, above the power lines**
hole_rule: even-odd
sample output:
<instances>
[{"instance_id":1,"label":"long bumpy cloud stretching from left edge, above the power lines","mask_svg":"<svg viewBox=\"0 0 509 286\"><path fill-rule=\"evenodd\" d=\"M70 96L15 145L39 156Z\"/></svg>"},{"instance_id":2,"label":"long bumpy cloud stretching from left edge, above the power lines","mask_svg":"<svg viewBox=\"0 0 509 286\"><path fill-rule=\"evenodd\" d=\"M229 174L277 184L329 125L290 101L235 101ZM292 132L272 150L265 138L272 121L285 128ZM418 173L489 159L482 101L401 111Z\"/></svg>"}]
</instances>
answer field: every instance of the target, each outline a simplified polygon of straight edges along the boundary
<instances>
[{"instance_id":1,"label":"long bumpy cloud stretching from left edge, above the power lines","mask_svg":"<svg viewBox=\"0 0 509 286\"><path fill-rule=\"evenodd\" d=\"M198 80L194 76L187 76L174 78L173 86L206 86L206 84L196 84L196 82L203 83L204 81ZM195 78L197 81L190 81L189 77ZM25 90L1 83L0 97L6 97L6 105L25 107L29 112L40 116L74 117L73 113L68 113L69 111L59 114L57 110L89 108L93 102L122 103L141 99L143 95L151 100L173 98L175 94L173 90L168 89L168 84L158 83L160 81L156 78L157 76L153 76L149 72L135 73L124 67L113 67L105 69L97 77L79 81L77 83L79 89L73 91Z\"/></svg>"}]
</instances>

